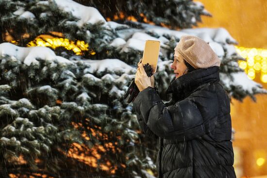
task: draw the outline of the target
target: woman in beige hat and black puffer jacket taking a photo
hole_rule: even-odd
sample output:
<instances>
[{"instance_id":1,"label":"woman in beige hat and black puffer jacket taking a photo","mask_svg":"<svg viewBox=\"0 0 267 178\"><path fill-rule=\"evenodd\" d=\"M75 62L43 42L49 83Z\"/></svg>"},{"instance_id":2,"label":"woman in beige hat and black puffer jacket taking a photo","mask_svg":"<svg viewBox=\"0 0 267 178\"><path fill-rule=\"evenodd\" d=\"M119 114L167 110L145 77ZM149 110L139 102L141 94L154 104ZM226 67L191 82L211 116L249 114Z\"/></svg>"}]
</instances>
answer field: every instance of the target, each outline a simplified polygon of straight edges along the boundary
<instances>
[{"instance_id":1,"label":"woman in beige hat and black puffer jacket taking a photo","mask_svg":"<svg viewBox=\"0 0 267 178\"><path fill-rule=\"evenodd\" d=\"M170 102L163 103L142 64L135 74L137 119L148 136L160 141L158 178L236 178L220 59L206 42L190 35L182 36L174 50Z\"/></svg>"}]
</instances>

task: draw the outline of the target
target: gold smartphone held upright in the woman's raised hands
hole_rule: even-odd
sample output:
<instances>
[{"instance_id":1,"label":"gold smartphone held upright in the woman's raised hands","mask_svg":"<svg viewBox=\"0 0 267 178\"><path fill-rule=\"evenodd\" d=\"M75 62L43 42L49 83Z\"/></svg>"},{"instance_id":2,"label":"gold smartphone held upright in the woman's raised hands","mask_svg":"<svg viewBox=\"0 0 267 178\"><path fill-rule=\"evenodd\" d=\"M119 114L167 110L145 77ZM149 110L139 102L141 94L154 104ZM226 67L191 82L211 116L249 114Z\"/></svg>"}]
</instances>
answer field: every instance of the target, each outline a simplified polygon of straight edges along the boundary
<instances>
[{"instance_id":1,"label":"gold smartphone held upright in the woman's raised hands","mask_svg":"<svg viewBox=\"0 0 267 178\"><path fill-rule=\"evenodd\" d=\"M160 41L146 40L145 49L143 52L142 64L149 63L153 69L154 74L157 71L157 64L159 58Z\"/></svg>"}]
</instances>

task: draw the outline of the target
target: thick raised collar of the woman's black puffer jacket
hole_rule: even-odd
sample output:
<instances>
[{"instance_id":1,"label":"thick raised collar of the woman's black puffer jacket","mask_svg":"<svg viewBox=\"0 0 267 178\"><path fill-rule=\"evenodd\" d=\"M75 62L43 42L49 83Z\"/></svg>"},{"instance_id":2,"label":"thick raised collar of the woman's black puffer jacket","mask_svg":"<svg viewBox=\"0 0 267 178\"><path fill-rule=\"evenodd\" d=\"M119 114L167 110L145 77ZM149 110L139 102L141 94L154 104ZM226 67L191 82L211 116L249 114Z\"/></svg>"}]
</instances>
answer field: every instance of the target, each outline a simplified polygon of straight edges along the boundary
<instances>
[{"instance_id":1,"label":"thick raised collar of the woman's black puffer jacket","mask_svg":"<svg viewBox=\"0 0 267 178\"><path fill-rule=\"evenodd\" d=\"M166 94L172 93L174 100L180 100L187 97L188 94L200 85L215 81L220 81L219 66L200 68L186 73L177 79L174 77L167 88Z\"/></svg>"}]
</instances>

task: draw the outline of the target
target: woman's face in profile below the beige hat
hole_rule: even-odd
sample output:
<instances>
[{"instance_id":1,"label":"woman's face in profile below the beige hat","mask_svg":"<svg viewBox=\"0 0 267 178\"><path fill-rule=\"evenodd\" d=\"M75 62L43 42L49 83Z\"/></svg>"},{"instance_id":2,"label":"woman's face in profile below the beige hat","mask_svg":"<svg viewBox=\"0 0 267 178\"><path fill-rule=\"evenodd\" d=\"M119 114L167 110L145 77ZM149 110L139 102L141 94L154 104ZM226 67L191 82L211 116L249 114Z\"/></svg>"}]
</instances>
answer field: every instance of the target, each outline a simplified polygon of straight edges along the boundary
<instances>
[{"instance_id":1,"label":"woman's face in profile below the beige hat","mask_svg":"<svg viewBox=\"0 0 267 178\"><path fill-rule=\"evenodd\" d=\"M187 67L184 64L184 59L181 56L181 54L179 54L178 52L174 52L174 61L173 63L170 65L170 68L172 68L175 73L175 78L177 79L178 77L181 77L182 75L187 73ZM185 71L186 70L186 71ZM184 72L185 71L185 72Z\"/></svg>"}]
</instances>

